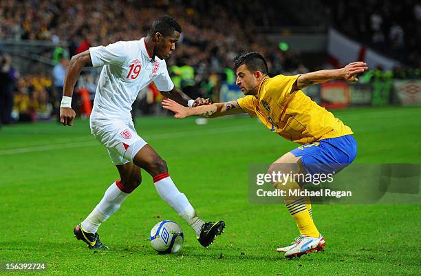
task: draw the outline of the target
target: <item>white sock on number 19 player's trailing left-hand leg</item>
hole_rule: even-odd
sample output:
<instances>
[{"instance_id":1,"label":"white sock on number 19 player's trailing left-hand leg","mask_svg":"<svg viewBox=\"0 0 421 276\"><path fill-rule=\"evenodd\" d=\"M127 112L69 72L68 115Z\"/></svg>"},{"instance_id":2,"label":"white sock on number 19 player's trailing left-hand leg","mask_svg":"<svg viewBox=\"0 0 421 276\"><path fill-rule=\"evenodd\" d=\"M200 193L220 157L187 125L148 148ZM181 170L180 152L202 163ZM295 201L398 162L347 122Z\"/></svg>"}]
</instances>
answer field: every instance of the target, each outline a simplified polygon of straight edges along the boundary
<instances>
[{"instance_id":1,"label":"white sock on number 19 player's trailing left-hand leg","mask_svg":"<svg viewBox=\"0 0 421 276\"><path fill-rule=\"evenodd\" d=\"M105 222L108 217L120 208L121 203L130 193L131 190L125 189L119 180L111 184L107 191L105 191L102 200L82 222L83 230L96 233L102 222Z\"/></svg>"}]
</instances>

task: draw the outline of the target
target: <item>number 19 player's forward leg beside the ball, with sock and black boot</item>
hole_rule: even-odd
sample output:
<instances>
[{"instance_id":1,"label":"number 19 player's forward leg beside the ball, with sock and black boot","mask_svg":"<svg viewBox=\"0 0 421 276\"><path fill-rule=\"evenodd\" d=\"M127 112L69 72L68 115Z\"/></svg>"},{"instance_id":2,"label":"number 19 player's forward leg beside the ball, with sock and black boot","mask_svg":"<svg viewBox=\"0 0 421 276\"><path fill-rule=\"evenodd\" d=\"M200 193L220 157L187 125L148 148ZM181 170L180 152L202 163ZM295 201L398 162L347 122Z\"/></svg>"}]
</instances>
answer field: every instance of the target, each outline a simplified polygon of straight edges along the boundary
<instances>
[{"instance_id":1,"label":"number 19 player's forward leg beside the ball, with sock and black boot","mask_svg":"<svg viewBox=\"0 0 421 276\"><path fill-rule=\"evenodd\" d=\"M168 173L166 162L150 146L145 145L136 153L133 163L147 171L153 178L155 189L167 204L169 204L187 223L197 235L202 246L209 246L217 235L221 235L225 222L207 222L201 220L191 206L184 193L175 187L175 184Z\"/></svg>"}]
</instances>

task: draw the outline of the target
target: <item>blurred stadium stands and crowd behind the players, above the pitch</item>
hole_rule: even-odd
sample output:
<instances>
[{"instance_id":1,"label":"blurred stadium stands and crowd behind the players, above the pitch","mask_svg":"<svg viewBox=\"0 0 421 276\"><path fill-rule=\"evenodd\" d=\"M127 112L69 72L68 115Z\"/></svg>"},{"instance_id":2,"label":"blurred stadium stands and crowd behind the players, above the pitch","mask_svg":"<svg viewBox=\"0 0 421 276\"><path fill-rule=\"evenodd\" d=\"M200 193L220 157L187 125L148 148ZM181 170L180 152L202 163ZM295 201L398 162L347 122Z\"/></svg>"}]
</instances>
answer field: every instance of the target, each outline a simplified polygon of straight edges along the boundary
<instances>
[{"instance_id":1,"label":"blurred stadium stands and crowd behind the players, above the pitch","mask_svg":"<svg viewBox=\"0 0 421 276\"><path fill-rule=\"evenodd\" d=\"M421 7L415 3L279 1L266 8L247 1L2 1L1 121L56 117L74 54L139 39L163 13L177 18L183 30L168 61L169 72L175 85L193 98L241 96L234 84L233 58L257 51L268 59L272 75L367 61L370 71L357 85L327 84L307 91L327 106L419 104ZM89 115L99 72L84 70L76 85L79 100L74 104L81 116ZM136 115L160 115L160 100L151 85L133 109Z\"/></svg>"}]
</instances>

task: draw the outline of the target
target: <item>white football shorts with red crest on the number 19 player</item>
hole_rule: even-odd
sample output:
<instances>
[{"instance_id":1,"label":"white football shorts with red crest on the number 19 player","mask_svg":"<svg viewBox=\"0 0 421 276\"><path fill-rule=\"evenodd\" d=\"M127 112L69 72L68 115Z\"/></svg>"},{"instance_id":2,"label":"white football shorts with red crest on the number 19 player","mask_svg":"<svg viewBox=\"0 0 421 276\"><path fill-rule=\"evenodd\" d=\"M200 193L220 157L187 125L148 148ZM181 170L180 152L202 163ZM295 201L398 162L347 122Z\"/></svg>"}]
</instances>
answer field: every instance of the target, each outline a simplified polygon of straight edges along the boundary
<instances>
[{"instance_id":1,"label":"white football shorts with red crest on the number 19 player","mask_svg":"<svg viewBox=\"0 0 421 276\"><path fill-rule=\"evenodd\" d=\"M131 121L94 121L91 122L91 134L107 148L109 158L115 165L133 162L136 153L147 145L147 142L138 136Z\"/></svg>"}]
</instances>

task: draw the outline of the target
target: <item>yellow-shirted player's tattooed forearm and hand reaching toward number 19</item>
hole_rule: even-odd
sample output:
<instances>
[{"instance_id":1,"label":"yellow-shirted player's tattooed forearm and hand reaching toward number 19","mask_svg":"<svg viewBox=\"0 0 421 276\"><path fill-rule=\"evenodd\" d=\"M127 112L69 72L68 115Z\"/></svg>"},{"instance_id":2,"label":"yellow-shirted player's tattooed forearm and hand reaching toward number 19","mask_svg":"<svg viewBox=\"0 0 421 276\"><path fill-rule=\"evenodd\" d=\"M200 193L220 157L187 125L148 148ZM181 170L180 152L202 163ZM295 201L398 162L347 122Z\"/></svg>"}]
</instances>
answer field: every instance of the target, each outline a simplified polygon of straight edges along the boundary
<instances>
[{"instance_id":1,"label":"yellow-shirted player's tattooed forearm and hand reaching toward number 19","mask_svg":"<svg viewBox=\"0 0 421 276\"><path fill-rule=\"evenodd\" d=\"M186 118L187 116L202 116L206 118L215 118L219 116L246 113L239 107L237 100L226 103L213 103L211 105L201 105L199 107L184 107L174 100L162 100L162 107L175 113L175 118Z\"/></svg>"}]
</instances>

